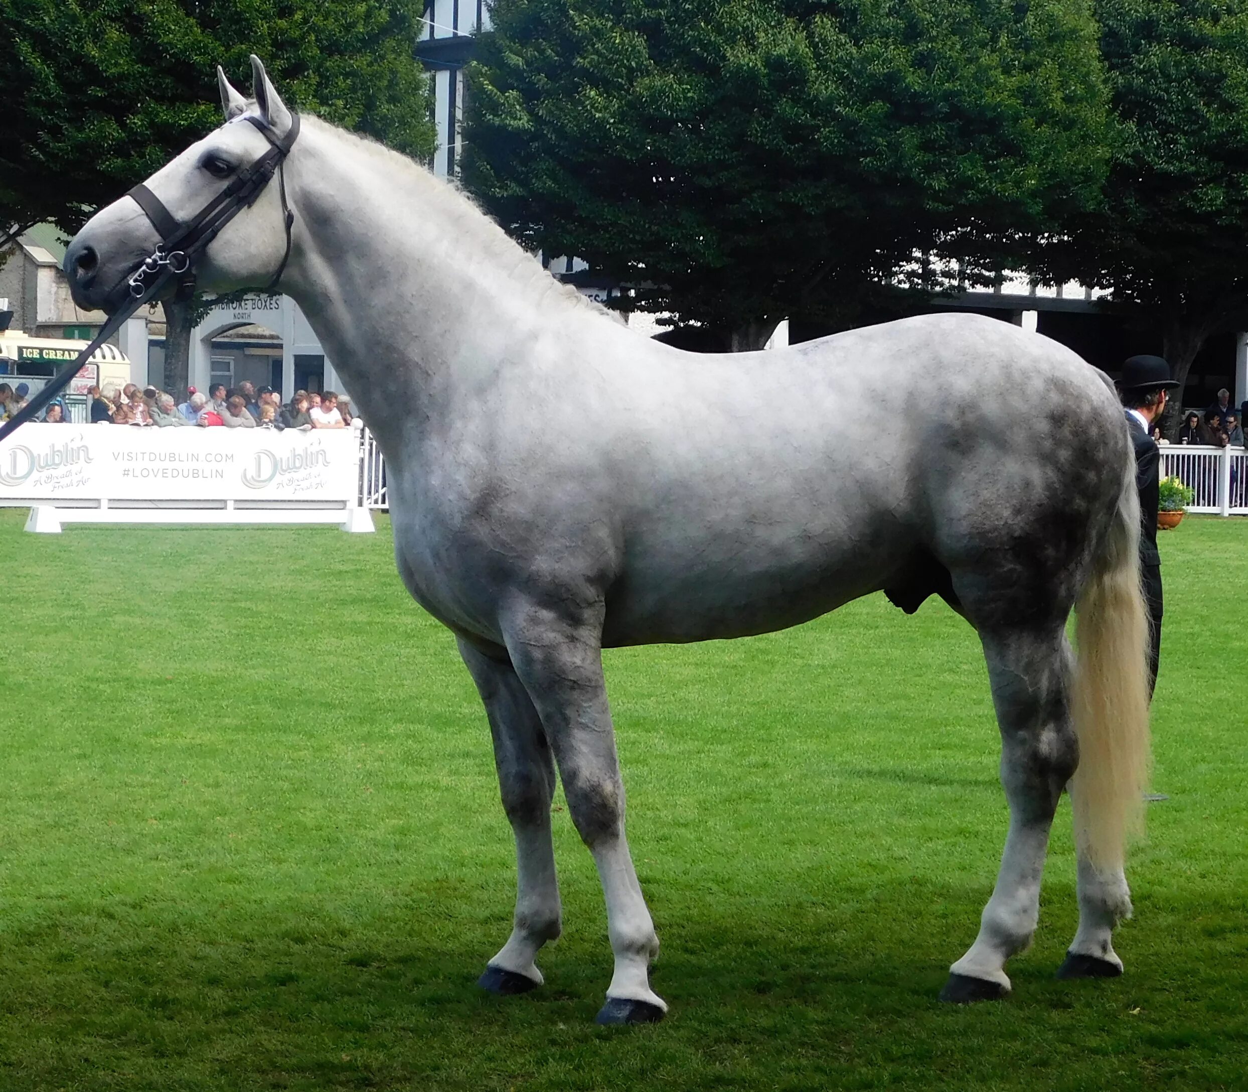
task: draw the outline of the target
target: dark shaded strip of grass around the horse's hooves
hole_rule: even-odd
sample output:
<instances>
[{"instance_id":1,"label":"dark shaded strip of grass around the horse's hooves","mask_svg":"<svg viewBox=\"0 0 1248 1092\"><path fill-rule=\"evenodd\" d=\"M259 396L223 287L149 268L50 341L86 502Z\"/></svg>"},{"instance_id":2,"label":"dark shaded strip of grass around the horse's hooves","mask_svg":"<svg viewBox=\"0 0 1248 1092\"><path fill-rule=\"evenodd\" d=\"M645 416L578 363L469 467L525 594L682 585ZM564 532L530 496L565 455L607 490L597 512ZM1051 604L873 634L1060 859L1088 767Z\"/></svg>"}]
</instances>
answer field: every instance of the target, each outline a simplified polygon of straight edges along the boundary
<instances>
[{"instance_id":1,"label":"dark shaded strip of grass around the horse's hooves","mask_svg":"<svg viewBox=\"0 0 1248 1092\"><path fill-rule=\"evenodd\" d=\"M592 1023L610 955L600 911L584 906L543 955L545 987L510 998L474 985L503 924L484 922L468 889L354 922L220 904L51 907L0 945L0 1083L7 1072L30 1090L922 1087L956 1072L966 1087L1001 1087L1020 1076L1002 1067L1017 1051L1031 1051L1027 1066L1087 1066L1091 1051L1119 1073L1138 1072L1132 1051L1144 1048L1157 1073L1158 1058L1214 1065L1248 1042L1242 1013L1213 1030L1176 1011L1194 982L1203 1003L1237 1005L1229 978L1211 981L1191 952L1167 953L1162 972L1134 930L1131 977L1056 982L1073 890L1048 894L1061 906L1011 965L1015 997L973 1010L936 995L973 936L978 889L890 882L836 905L695 896L664 915L654 986L669 1020L623 1036ZM1242 950L1243 935L1226 941ZM704 1071L718 1077L704 1085Z\"/></svg>"}]
</instances>

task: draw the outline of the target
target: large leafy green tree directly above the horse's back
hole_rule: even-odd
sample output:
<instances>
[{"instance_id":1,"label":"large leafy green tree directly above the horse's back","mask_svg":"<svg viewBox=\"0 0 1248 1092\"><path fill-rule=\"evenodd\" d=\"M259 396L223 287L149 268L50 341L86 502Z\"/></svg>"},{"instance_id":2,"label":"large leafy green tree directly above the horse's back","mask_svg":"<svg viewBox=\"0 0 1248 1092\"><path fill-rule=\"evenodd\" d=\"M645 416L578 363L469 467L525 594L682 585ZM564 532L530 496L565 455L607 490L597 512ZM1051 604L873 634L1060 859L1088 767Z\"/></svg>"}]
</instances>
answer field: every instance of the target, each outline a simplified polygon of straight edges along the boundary
<instances>
[{"instance_id":1,"label":"large leafy green tree directly above the horse's back","mask_svg":"<svg viewBox=\"0 0 1248 1092\"><path fill-rule=\"evenodd\" d=\"M1083 0L495 0L493 24L469 188L733 348L937 286L919 252L1000 267L1104 173Z\"/></svg>"}]
</instances>

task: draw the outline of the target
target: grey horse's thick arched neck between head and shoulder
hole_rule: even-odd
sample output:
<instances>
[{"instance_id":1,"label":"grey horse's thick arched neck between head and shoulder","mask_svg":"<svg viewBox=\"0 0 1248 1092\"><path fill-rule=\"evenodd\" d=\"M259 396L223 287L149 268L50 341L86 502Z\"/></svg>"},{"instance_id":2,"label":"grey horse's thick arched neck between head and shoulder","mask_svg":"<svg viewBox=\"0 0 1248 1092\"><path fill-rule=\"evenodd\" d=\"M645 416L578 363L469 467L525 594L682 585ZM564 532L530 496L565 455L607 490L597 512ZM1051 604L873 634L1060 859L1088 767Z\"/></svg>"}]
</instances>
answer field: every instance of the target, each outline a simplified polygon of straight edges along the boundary
<instances>
[{"instance_id":1,"label":"grey horse's thick arched neck between head and shoulder","mask_svg":"<svg viewBox=\"0 0 1248 1092\"><path fill-rule=\"evenodd\" d=\"M583 321L528 255L432 175L323 124L300 141L290 186L302 223L283 288L378 432L470 402L514 358L509 347Z\"/></svg>"}]
</instances>

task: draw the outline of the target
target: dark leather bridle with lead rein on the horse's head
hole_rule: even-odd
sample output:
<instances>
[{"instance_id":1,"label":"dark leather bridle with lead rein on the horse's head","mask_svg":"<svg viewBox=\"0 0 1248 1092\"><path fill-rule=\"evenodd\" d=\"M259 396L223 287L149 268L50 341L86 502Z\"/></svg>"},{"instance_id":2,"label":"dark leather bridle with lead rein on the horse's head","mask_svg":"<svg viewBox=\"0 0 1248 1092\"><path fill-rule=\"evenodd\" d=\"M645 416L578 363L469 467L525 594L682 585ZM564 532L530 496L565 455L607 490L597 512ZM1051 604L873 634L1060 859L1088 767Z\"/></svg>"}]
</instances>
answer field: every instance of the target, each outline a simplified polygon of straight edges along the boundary
<instances>
[{"instance_id":1,"label":"dark leather bridle with lead rein on the horse's head","mask_svg":"<svg viewBox=\"0 0 1248 1092\"><path fill-rule=\"evenodd\" d=\"M79 373L82 364L91 358L92 353L112 337L144 303L155 300L171 280L177 280L177 293L183 298L188 297L195 291L196 260L217 237L221 228L243 208L250 208L256 203L256 198L272 181L275 173L282 195L286 251L282 253L282 262L266 291L271 292L277 287L291 257L291 227L295 223L295 213L286 202L286 175L282 171L282 165L300 135L300 116L291 111L291 127L281 137L267 121L252 114L243 115L240 120L248 121L260 130L268 141L268 150L251 166L238 171L221 192L190 220L177 220L165 207L165 203L141 182L130 191L129 196L142 208L161 241L156 245L156 250L144 258L137 270L125 275L109 291L106 298L109 302L116 303L117 310L100 328L95 339L72 362L65 364L16 417L0 426L0 441L35 417L56 398L69 386L70 379Z\"/></svg>"}]
</instances>

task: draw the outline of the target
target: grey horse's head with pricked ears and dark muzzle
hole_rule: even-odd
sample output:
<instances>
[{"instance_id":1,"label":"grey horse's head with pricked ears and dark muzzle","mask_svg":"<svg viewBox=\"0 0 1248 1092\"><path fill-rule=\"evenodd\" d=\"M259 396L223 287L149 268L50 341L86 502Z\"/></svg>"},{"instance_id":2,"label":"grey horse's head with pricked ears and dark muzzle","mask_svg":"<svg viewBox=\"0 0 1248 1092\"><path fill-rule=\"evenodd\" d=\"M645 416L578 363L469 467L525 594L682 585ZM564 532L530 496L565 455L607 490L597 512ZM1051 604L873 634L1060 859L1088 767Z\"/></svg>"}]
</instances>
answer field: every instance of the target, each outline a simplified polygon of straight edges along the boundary
<instances>
[{"instance_id":1,"label":"grey horse's head with pricked ears and dark muzzle","mask_svg":"<svg viewBox=\"0 0 1248 1092\"><path fill-rule=\"evenodd\" d=\"M155 217L127 193L101 208L74 237L65 251L65 276L80 307L109 313L119 310L130 295L130 278L167 241L173 227L192 223L205 210L220 205L218 198L228 196L231 183L238 190L240 177L246 181L257 161L273 155L275 141L293 136L293 115L278 97L265 66L255 56L251 65L251 101L231 87L217 69L226 122L147 180L146 187L156 197ZM228 292L263 287L281 270L288 245L282 196L276 183L261 186L253 203L242 207L193 258L200 288ZM162 220L160 205L172 223L154 222ZM166 247L166 253L170 250Z\"/></svg>"}]
</instances>

